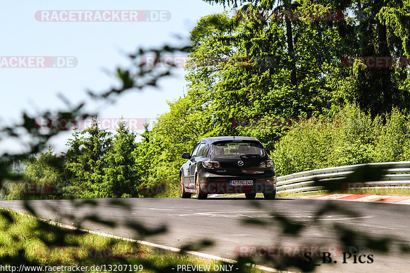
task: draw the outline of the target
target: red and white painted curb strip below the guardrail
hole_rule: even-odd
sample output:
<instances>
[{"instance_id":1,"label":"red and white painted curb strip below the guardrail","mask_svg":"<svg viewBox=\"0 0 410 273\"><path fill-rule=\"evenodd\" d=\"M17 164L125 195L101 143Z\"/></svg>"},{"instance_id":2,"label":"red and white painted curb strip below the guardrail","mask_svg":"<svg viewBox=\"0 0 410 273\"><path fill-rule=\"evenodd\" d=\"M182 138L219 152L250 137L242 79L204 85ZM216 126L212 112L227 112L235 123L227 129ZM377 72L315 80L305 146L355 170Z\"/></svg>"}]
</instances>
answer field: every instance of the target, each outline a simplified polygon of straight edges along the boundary
<instances>
[{"instance_id":1,"label":"red and white painted curb strip below the guardrail","mask_svg":"<svg viewBox=\"0 0 410 273\"><path fill-rule=\"evenodd\" d=\"M365 195L365 194L325 194L306 196L304 198L348 200L361 202L394 203L410 205L410 196L387 196L387 195Z\"/></svg>"}]
</instances>

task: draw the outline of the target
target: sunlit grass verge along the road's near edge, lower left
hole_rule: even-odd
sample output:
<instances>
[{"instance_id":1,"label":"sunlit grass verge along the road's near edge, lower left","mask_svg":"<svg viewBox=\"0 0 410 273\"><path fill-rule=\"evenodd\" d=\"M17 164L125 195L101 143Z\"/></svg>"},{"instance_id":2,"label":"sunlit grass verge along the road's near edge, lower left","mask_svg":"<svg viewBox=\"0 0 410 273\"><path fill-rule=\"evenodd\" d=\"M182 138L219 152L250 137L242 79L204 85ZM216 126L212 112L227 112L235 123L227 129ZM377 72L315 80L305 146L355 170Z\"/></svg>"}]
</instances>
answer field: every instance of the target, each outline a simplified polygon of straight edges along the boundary
<instances>
[{"instance_id":1,"label":"sunlit grass verge along the road's near edge, lower left","mask_svg":"<svg viewBox=\"0 0 410 273\"><path fill-rule=\"evenodd\" d=\"M67 268L58 270L56 266L61 265L87 266L86 270L80 270L83 272L177 272L178 265L209 265L213 271L214 266L229 266L220 261L65 229L26 214L0 209L0 265L18 268L22 264L55 266L56 270L35 270L43 272L68 271ZM96 266L100 269L96 270ZM236 267L239 267L234 270L237 272L264 272L245 265L235 264L233 268Z\"/></svg>"}]
</instances>

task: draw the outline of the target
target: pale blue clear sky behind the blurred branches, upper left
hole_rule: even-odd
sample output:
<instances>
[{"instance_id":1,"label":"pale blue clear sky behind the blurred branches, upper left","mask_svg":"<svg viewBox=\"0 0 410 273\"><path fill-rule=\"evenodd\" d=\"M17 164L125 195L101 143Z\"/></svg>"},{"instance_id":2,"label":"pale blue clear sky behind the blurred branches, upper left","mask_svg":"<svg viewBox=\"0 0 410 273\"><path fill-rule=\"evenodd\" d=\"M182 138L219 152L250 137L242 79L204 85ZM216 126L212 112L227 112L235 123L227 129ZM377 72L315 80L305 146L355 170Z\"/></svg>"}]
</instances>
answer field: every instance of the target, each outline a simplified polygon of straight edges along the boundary
<instances>
[{"instance_id":1,"label":"pale blue clear sky behind the blurred branches, upper left","mask_svg":"<svg viewBox=\"0 0 410 273\"><path fill-rule=\"evenodd\" d=\"M117 67L131 66L127 53L133 53L140 47L148 49L165 44L177 45L181 43L177 36L188 41L190 31L200 17L224 11L222 6L212 6L201 0L0 1L0 124L3 125L21 121L23 111L35 114L44 110L64 109L65 103L58 98L58 93L74 104L86 100L87 109L97 110L99 118L110 120L121 116L138 120L153 119L167 112L167 100L183 96L186 81L182 68L174 69L174 77L161 79L158 89L131 92L120 96L116 103L92 102L86 91L106 91L116 85L117 80L110 73ZM139 15L132 18L139 21L95 21L98 19L94 17L97 16L95 11L103 14L102 11L112 10L125 11L125 15L120 18L123 20L129 19L130 11L136 10ZM59 17L52 17L52 11L58 11ZM94 12L86 22L68 19L61 22L66 17L60 11ZM144 14L148 14L149 20L155 20L158 16L161 16L161 20L141 22L146 19ZM78 20L80 15L84 16L77 12L71 14L71 18ZM118 18L107 13L106 18L109 16ZM47 19L50 21L47 22ZM17 57L27 58L18 60ZM28 57L36 58L29 61ZM70 61L71 67L41 67L50 65L50 57L70 57L58 61ZM54 58L51 64L56 65L56 61ZM11 67L33 64L40 68ZM52 139L51 147L57 152L66 150L65 144L70 135L64 133ZM0 143L0 152L24 149L16 145L3 141Z\"/></svg>"}]
</instances>

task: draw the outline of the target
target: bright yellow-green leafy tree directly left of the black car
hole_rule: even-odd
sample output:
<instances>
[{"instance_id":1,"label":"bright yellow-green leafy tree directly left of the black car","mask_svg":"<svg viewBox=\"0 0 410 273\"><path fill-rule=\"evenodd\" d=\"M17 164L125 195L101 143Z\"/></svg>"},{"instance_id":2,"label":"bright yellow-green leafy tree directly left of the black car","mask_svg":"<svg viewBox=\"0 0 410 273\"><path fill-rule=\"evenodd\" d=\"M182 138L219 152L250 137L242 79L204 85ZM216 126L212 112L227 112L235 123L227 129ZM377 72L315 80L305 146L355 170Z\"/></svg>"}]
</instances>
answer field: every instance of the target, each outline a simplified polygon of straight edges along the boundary
<instances>
[{"instance_id":1,"label":"bright yellow-green leafy tree directly left of the black car","mask_svg":"<svg viewBox=\"0 0 410 273\"><path fill-rule=\"evenodd\" d=\"M212 122L200 101L190 95L169 102L170 111L158 117L152 131L142 134L134 155L137 157L139 185L145 188L166 184L167 192L179 188L179 167L182 153L190 153L194 144L212 133Z\"/></svg>"}]
</instances>

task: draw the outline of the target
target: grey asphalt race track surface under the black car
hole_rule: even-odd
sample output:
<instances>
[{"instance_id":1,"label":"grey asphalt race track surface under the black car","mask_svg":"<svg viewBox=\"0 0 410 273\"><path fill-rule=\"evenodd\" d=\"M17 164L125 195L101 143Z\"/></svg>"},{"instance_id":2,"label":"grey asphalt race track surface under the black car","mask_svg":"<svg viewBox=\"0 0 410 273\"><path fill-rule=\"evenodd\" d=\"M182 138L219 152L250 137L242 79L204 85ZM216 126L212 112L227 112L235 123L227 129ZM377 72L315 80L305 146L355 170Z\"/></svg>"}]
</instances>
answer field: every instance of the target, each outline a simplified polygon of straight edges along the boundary
<instances>
[{"instance_id":1,"label":"grey asphalt race track surface under the black car","mask_svg":"<svg viewBox=\"0 0 410 273\"><path fill-rule=\"evenodd\" d=\"M181 247L187 244L198 245L201 240L212 240L212 246L198 251L224 258L235 259L235 251L247 253L245 249L249 248L243 246L266 246L269 249L285 246L286 248L279 249L288 249L287 255L291 253L289 251L303 246L323 246L324 251L330 250L333 261L316 266L319 272L404 272L410 268L410 254L396 251L396 241L410 246L410 205L303 198L255 201L244 198L127 198L93 199L95 205L84 203L88 201L33 200L29 204L39 217L45 219L65 224L78 222L82 223L81 227L91 230L162 245ZM333 211L333 205L341 210ZM23 201L0 201L0 206L25 211ZM314 220L321 209L323 214ZM117 226L108 227L84 220L91 215L114 221ZM303 229L297 236L285 236L283 226L273 215L289 217L295 223L302 224ZM142 236L130 227L136 226L135 223L130 225L133 221L150 229L165 225L168 232ZM261 221L264 225L255 225L249 221ZM345 248L339 247L341 243L335 233L335 224L353 229L354 234L348 235L350 237L359 236L360 239L363 238L361 233L365 232L375 238L393 238L389 243L393 250L388 255L383 255L363 248L360 255L366 255L362 258L365 263L354 263L353 256L346 260L347 263L342 263L341 252ZM344 251L354 254L354 250L351 248ZM370 261L368 255L373 255L374 262L367 263ZM335 260L337 263L334 263ZM258 260L258 263L271 266L266 260Z\"/></svg>"}]
</instances>

